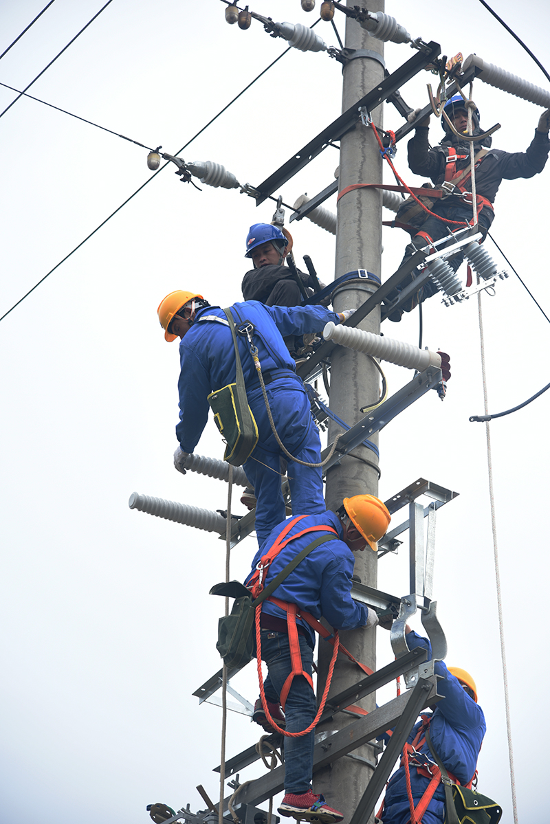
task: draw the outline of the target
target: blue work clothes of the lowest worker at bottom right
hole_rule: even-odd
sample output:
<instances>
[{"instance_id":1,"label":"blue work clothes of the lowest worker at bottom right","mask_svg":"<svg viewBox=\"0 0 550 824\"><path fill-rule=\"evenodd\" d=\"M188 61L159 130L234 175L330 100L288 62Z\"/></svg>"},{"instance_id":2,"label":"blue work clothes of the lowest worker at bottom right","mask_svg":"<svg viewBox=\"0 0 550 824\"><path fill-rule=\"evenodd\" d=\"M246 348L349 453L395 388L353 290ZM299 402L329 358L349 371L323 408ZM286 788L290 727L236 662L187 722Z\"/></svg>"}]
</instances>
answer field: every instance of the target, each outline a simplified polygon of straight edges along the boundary
<instances>
[{"instance_id":1,"label":"blue work clothes of the lowest worker at bottom right","mask_svg":"<svg viewBox=\"0 0 550 824\"><path fill-rule=\"evenodd\" d=\"M430 642L416 632L407 634L407 644L410 649L425 647L429 650L431 658ZM443 761L444 767L453 773L461 784L468 784L476 771L477 756L487 728L485 716L482 708L463 691L460 682L451 675L444 662L435 662L435 674L443 676L438 680L437 690L444 698L438 702L431 716L432 747ZM409 742L414 740L421 723L416 723L408 737ZM431 758L427 742L420 747L420 751ZM415 807L429 783L428 778L419 775L416 767L411 766L411 789ZM443 784L440 784L422 817L422 824L442 824L445 818L444 802ZM407 824L410 816L405 767L401 766L389 781L382 821L383 824Z\"/></svg>"}]
</instances>

